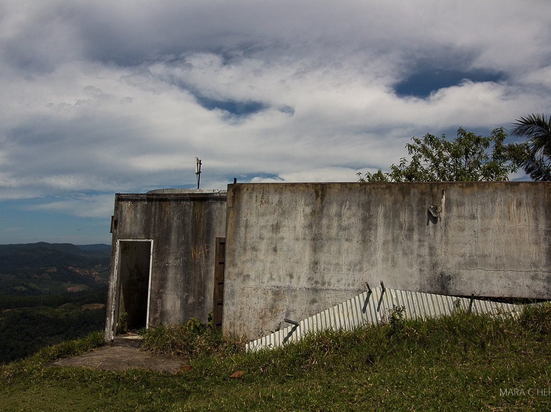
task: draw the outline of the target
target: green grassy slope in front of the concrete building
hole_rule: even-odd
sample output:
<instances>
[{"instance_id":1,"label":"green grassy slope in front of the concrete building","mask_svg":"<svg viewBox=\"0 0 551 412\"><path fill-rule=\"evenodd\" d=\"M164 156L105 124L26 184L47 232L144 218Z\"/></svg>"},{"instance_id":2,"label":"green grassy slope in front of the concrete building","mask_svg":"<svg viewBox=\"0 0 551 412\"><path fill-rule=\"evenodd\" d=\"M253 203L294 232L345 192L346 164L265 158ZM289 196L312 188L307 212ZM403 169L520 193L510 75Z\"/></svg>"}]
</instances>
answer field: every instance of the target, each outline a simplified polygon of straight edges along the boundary
<instances>
[{"instance_id":1,"label":"green grassy slope in front of the concrete building","mask_svg":"<svg viewBox=\"0 0 551 412\"><path fill-rule=\"evenodd\" d=\"M188 325L148 333L149 350L190 357L176 375L47 367L100 335L0 368L0 410L549 410L551 305L520 317L404 320L312 334L244 353ZM244 371L240 378L231 378Z\"/></svg>"}]
</instances>

